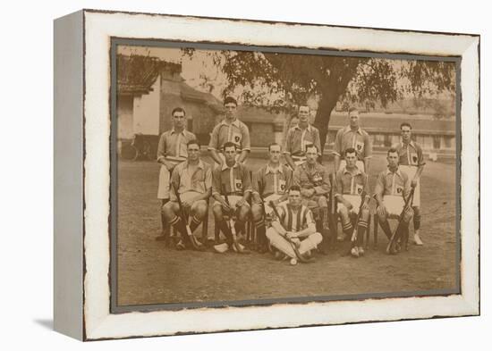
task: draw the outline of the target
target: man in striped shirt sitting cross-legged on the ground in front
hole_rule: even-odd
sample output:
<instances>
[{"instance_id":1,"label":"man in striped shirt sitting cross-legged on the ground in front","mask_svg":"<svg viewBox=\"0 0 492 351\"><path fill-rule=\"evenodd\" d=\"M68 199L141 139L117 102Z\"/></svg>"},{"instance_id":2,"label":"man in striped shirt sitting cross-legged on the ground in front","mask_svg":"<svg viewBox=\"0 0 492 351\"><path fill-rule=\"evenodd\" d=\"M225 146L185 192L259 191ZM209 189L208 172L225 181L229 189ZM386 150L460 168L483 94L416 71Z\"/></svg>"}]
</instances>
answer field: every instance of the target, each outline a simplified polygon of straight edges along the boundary
<instances>
[{"instance_id":1,"label":"man in striped shirt sitting cross-legged on the ground in front","mask_svg":"<svg viewBox=\"0 0 492 351\"><path fill-rule=\"evenodd\" d=\"M316 232L316 223L310 209L301 205L301 202L301 188L294 185L289 189L288 204L276 207L280 218L274 216L272 226L267 229L270 244L290 257L291 264L297 263L293 245L301 255L310 255L310 250L318 247L323 240L321 234Z\"/></svg>"}]
</instances>

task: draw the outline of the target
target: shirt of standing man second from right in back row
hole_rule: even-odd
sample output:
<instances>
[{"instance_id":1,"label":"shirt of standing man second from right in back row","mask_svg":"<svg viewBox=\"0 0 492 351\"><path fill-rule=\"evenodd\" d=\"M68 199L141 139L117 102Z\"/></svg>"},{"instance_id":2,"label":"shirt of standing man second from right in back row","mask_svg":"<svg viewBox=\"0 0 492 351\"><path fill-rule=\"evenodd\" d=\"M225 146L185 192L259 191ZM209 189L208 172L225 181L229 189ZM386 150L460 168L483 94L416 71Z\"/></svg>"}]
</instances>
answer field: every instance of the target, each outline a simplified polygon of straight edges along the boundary
<instances>
[{"instance_id":1,"label":"shirt of standing man second from right in back row","mask_svg":"<svg viewBox=\"0 0 492 351\"><path fill-rule=\"evenodd\" d=\"M336 132L333 155L344 157L344 151L350 147L355 149L357 158L361 161L372 157L372 143L369 134L361 127L358 130L352 130L350 126L346 126Z\"/></svg>"}]
</instances>

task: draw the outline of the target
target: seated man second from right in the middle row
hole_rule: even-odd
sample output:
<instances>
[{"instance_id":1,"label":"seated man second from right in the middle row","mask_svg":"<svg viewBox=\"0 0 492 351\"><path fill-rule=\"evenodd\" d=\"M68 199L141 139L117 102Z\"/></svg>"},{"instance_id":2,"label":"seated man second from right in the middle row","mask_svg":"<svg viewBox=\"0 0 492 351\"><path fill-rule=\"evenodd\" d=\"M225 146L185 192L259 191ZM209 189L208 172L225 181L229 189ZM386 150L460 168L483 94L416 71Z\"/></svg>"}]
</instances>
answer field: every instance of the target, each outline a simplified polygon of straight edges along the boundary
<instances>
[{"instance_id":1,"label":"seated man second from right in the middle row","mask_svg":"<svg viewBox=\"0 0 492 351\"><path fill-rule=\"evenodd\" d=\"M339 241L344 241L345 238L351 238L353 232L352 218L359 214L361 207L361 195L365 192L362 212L357 226L357 243L352 247L351 254L355 257L364 255L362 241L364 233L368 229L369 221L369 182L366 173L361 171L357 166L357 153L354 148L349 147L344 151L345 166L340 171L336 172L336 190L335 196L338 200L336 208L337 213L342 220L342 236Z\"/></svg>"}]
</instances>

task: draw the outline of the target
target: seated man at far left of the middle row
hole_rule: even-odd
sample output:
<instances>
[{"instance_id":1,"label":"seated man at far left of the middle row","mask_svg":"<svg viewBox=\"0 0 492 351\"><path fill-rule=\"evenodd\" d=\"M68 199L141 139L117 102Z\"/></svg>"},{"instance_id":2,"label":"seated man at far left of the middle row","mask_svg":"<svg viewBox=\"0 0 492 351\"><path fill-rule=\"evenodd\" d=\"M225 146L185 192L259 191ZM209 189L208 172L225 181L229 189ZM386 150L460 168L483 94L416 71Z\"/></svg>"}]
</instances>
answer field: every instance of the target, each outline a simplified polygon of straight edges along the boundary
<instances>
[{"instance_id":1,"label":"seated man at far left of the middle row","mask_svg":"<svg viewBox=\"0 0 492 351\"><path fill-rule=\"evenodd\" d=\"M176 245L178 250L191 246L186 232L185 223L179 216L180 207L174 188L177 189L182 205L187 215L191 216L191 232L197 229L199 223L208 215L208 197L212 192L212 167L199 157L199 142L191 140L187 145L188 159L174 167L171 176L171 201L164 205L162 211L168 223L181 234L181 240Z\"/></svg>"}]
</instances>

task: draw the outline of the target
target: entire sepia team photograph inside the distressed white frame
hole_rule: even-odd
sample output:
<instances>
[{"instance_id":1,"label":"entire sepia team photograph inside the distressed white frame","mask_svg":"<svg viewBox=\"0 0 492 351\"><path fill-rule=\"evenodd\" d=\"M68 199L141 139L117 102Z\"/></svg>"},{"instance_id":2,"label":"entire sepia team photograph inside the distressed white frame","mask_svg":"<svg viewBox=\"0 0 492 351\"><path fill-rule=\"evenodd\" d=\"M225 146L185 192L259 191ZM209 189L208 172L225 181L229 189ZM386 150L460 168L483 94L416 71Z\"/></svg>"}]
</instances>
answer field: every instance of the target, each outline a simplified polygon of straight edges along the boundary
<instances>
[{"instance_id":1,"label":"entire sepia team photograph inside the distressed white frame","mask_svg":"<svg viewBox=\"0 0 492 351\"><path fill-rule=\"evenodd\" d=\"M116 305L459 292L454 62L113 54Z\"/></svg>"}]
</instances>

